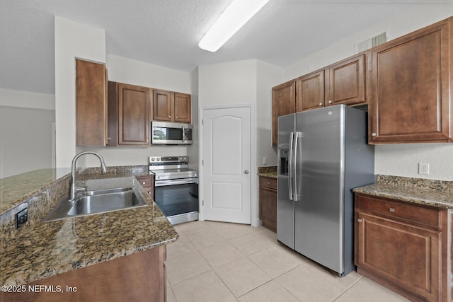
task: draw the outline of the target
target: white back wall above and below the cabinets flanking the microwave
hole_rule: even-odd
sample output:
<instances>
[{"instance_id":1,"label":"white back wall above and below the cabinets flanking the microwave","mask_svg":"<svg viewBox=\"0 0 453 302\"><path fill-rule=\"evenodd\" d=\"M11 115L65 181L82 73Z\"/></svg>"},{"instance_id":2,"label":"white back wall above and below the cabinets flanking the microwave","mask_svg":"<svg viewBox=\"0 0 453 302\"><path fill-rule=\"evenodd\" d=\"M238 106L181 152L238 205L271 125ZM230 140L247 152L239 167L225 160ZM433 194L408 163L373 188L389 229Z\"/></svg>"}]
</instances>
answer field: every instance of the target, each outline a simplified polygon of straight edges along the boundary
<instances>
[{"instance_id":1,"label":"white back wall above and below the cabinets flanking the microwave","mask_svg":"<svg viewBox=\"0 0 453 302\"><path fill-rule=\"evenodd\" d=\"M169 69L108 54L107 70L109 81L127 83L150 88L191 93L192 75L189 72ZM192 101L195 99L192 95ZM193 105L194 105L193 104ZM193 108L193 115L194 110ZM196 120L193 120L196 123ZM187 146L149 146L149 147L78 147L77 151L96 151L101 153L106 165L147 165L149 156L186 156ZM195 158L194 158L195 159ZM189 158L192 163L192 159ZM87 166L98 166L95 156L86 156ZM196 162L195 164L196 165Z\"/></svg>"}]
</instances>

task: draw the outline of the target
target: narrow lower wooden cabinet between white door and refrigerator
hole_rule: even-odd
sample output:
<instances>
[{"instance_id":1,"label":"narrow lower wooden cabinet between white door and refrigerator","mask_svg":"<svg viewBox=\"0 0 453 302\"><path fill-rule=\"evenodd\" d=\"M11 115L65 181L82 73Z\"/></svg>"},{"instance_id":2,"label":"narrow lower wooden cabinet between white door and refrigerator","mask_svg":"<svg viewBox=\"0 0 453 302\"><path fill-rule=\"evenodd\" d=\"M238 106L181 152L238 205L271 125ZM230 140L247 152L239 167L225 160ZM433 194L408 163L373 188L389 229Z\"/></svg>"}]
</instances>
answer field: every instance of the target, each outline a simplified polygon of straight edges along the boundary
<instances>
[{"instance_id":1,"label":"narrow lower wooden cabinet between white door and refrigerator","mask_svg":"<svg viewBox=\"0 0 453 302\"><path fill-rule=\"evenodd\" d=\"M260 176L260 219L263 226L277 232L277 180Z\"/></svg>"}]
</instances>

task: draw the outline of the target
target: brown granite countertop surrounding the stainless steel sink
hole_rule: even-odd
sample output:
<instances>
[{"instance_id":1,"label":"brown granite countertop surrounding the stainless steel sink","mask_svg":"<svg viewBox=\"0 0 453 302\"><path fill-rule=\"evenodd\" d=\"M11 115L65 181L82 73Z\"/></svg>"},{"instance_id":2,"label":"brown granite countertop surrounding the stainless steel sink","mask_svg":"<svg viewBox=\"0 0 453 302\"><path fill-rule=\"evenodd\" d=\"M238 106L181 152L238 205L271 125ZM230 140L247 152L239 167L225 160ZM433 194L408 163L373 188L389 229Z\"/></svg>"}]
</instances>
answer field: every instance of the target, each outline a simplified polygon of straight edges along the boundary
<instances>
[{"instance_id":1,"label":"brown granite countertop surrounding the stainless steel sink","mask_svg":"<svg viewBox=\"0 0 453 302\"><path fill-rule=\"evenodd\" d=\"M112 182L127 186L137 182L133 176L127 177L131 174L144 173L116 171L103 177L122 177ZM103 177L93 173L87 178ZM0 285L26 284L175 241L178 233L143 187L138 187L147 199L146 207L37 221L23 228L1 252Z\"/></svg>"}]
</instances>

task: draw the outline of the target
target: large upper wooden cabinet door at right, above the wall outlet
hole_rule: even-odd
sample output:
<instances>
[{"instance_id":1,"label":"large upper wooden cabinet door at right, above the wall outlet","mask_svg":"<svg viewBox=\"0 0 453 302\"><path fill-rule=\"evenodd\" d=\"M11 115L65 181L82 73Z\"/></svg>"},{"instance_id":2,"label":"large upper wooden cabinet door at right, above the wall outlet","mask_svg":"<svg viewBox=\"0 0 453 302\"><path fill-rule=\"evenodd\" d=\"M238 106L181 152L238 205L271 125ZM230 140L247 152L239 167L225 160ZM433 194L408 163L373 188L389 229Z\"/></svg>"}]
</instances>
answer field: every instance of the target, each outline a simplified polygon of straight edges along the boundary
<instances>
[{"instance_id":1,"label":"large upper wooden cabinet door at right, above the wall outlet","mask_svg":"<svg viewBox=\"0 0 453 302\"><path fill-rule=\"evenodd\" d=\"M370 143L449 141L449 21L372 50Z\"/></svg>"}]
</instances>

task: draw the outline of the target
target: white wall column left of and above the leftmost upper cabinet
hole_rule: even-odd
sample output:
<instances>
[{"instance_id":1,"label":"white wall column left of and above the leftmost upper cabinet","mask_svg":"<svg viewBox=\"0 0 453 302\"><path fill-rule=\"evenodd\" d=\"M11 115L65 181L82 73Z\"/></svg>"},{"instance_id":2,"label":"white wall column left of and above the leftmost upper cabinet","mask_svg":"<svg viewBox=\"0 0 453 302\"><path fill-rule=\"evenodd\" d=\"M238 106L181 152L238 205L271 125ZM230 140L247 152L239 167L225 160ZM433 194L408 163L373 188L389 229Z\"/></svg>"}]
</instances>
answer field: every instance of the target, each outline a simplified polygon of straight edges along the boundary
<instances>
[{"instance_id":1,"label":"white wall column left of and above the leftmost upper cabinet","mask_svg":"<svg viewBox=\"0 0 453 302\"><path fill-rule=\"evenodd\" d=\"M105 63L105 30L55 16L57 168L70 167L76 154L76 57Z\"/></svg>"}]
</instances>

